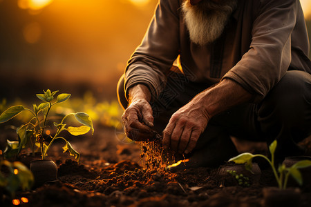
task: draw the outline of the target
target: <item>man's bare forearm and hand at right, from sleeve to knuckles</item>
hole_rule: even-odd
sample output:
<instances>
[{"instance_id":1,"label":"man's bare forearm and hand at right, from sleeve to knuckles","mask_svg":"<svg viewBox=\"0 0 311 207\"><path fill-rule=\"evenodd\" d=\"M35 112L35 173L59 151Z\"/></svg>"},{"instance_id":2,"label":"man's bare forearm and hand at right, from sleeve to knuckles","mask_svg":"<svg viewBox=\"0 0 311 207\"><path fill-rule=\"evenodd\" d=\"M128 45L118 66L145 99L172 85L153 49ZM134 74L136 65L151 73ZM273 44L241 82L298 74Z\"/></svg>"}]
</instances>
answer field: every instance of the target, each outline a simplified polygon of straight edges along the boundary
<instances>
[{"instance_id":1,"label":"man's bare forearm and hand at right, from sleeve to knuckles","mask_svg":"<svg viewBox=\"0 0 311 207\"><path fill-rule=\"evenodd\" d=\"M238 83L223 79L216 86L200 92L172 115L163 131L164 148L179 153L191 152L211 117L251 99L252 95Z\"/></svg>"}]
</instances>

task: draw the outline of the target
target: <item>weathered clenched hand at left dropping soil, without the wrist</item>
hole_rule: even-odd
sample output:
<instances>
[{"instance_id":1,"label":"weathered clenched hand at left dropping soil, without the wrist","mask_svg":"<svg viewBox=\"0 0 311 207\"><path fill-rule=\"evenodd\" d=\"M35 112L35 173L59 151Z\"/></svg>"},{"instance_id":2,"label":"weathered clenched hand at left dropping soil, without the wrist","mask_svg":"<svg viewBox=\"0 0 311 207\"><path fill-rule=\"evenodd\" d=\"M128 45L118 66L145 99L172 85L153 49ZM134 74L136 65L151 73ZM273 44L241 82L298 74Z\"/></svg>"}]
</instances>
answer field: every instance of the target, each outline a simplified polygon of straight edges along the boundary
<instances>
[{"instance_id":1,"label":"weathered clenched hand at left dropping soil, without the wrist","mask_svg":"<svg viewBox=\"0 0 311 207\"><path fill-rule=\"evenodd\" d=\"M152 108L146 99L137 99L129 105L122 115L126 136L134 141L153 139Z\"/></svg>"}]
</instances>

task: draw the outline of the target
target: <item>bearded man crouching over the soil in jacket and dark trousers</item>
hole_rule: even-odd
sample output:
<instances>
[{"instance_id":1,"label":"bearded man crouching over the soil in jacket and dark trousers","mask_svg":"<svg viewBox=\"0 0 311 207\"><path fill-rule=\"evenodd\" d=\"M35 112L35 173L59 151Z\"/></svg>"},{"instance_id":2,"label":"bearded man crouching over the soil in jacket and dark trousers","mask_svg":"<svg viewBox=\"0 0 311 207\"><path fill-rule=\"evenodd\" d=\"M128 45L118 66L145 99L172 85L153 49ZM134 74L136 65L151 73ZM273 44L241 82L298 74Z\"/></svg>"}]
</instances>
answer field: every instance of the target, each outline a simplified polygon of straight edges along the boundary
<instances>
[{"instance_id":1,"label":"bearded man crouching over the soil in jacket and dark trousers","mask_svg":"<svg viewBox=\"0 0 311 207\"><path fill-rule=\"evenodd\" d=\"M230 136L277 139L278 161L304 155L308 52L299 0L161 0L118 83L126 135L163 132L163 147L185 153L187 167L236 155Z\"/></svg>"}]
</instances>

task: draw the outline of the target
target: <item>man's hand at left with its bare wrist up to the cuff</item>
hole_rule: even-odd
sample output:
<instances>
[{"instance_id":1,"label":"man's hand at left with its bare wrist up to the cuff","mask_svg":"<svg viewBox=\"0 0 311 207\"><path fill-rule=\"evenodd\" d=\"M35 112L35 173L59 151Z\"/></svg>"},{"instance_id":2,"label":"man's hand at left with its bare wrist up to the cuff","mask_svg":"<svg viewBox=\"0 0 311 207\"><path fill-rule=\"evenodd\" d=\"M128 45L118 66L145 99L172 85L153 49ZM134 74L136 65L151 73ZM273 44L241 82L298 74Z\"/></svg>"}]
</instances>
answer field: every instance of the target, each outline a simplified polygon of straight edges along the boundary
<instances>
[{"instance_id":1,"label":"man's hand at left with its bare wrist up to the cuff","mask_svg":"<svg viewBox=\"0 0 311 207\"><path fill-rule=\"evenodd\" d=\"M139 84L129 89L130 104L122 115L122 122L126 136L134 141L148 141L154 137L150 99L147 86Z\"/></svg>"}]
</instances>

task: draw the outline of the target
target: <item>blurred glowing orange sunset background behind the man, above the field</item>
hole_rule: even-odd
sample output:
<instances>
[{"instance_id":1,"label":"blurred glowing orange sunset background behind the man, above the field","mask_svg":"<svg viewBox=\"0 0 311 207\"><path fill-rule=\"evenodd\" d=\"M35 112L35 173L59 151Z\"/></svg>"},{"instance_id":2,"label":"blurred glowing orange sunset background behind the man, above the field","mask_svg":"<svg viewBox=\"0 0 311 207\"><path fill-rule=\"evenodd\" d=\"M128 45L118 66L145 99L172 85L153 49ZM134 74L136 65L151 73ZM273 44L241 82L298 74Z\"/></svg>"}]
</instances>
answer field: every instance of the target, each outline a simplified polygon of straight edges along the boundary
<instances>
[{"instance_id":1,"label":"blurred glowing orange sunset background behind the man, above the field","mask_svg":"<svg viewBox=\"0 0 311 207\"><path fill-rule=\"evenodd\" d=\"M158 0L0 0L0 101L50 88L97 101L115 86ZM311 1L301 0L311 33Z\"/></svg>"}]
</instances>

